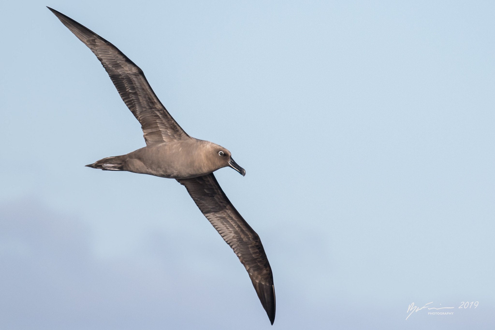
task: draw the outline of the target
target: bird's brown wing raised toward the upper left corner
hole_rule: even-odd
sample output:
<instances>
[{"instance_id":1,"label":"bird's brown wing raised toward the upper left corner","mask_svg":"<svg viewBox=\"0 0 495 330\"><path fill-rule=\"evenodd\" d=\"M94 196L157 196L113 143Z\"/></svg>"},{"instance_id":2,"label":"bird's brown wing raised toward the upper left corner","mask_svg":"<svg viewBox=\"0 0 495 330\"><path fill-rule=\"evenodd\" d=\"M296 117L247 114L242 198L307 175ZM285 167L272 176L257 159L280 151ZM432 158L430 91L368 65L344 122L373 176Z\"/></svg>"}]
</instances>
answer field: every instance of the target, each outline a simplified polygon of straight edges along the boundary
<instances>
[{"instance_id":1,"label":"bird's brown wing raised toward the upper left corner","mask_svg":"<svg viewBox=\"0 0 495 330\"><path fill-rule=\"evenodd\" d=\"M72 18L50 7L48 9L98 57L120 97L141 123L147 145L189 137L161 104L143 71L133 61Z\"/></svg>"}]
</instances>

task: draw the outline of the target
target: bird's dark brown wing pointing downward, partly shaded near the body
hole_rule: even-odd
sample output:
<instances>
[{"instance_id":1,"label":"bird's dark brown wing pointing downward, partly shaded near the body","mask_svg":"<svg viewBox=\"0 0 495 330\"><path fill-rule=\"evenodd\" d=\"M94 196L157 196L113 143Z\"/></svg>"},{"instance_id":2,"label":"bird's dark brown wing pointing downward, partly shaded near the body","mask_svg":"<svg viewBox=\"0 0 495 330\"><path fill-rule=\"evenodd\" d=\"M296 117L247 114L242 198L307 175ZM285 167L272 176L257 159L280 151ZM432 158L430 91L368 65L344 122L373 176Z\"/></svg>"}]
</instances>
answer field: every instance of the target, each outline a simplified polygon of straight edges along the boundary
<instances>
[{"instance_id":1,"label":"bird's dark brown wing pointing downward, partly shaded near the body","mask_svg":"<svg viewBox=\"0 0 495 330\"><path fill-rule=\"evenodd\" d=\"M177 181L186 187L206 219L246 267L259 300L273 324L275 320L273 275L259 236L234 208L213 173Z\"/></svg>"}]
</instances>

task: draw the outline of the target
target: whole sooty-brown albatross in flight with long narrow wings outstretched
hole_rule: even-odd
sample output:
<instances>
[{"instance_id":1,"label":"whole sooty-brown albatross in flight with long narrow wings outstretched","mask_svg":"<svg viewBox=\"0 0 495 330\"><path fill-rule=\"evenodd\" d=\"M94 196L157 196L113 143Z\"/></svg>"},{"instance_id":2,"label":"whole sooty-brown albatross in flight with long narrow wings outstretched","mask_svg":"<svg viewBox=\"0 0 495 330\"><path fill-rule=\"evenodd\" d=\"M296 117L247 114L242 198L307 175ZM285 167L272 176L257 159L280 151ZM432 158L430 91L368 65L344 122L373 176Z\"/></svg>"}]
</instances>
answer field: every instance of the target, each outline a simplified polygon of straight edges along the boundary
<instances>
[{"instance_id":1,"label":"whole sooty-brown albatross in flight with long narrow wings outstretched","mask_svg":"<svg viewBox=\"0 0 495 330\"><path fill-rule=\"evenodd\" d=\"M226 148L189 136L168 113L143 71L117 47L70 17L48 7L98 57L122 100L141 124L146 146L86 165L176 179L244 265L270 323L275 320L273 275L259 236L243 219L213 172L231 167L246 171Z\"/></svg>"}]
</instances>

